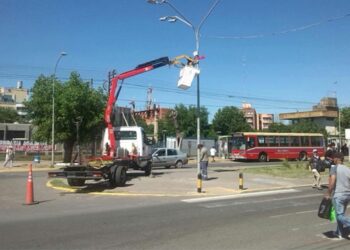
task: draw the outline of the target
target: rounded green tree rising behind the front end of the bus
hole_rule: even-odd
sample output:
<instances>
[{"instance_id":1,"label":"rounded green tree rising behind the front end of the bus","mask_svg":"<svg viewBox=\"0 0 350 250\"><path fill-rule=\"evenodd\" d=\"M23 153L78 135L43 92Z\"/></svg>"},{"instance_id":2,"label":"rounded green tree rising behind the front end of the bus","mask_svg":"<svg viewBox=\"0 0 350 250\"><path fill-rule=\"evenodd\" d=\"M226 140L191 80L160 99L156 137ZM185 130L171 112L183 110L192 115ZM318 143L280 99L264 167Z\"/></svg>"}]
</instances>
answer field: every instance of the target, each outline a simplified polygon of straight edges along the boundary
<instances>
[{"instance_id":1,"label":"rounded green tree rising behind the front end of the bus","mask_svg":"<svg viewBox=\"0 0 350 250\"><path fill-rule=\"evenodd\" d=\"M220 131L222 135L251 131L243 113L233 106L219 109L214 115L212 126L215 131Z\"/></svg>"}]
</instances>

